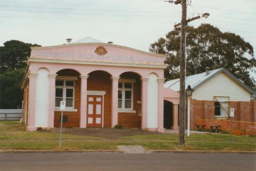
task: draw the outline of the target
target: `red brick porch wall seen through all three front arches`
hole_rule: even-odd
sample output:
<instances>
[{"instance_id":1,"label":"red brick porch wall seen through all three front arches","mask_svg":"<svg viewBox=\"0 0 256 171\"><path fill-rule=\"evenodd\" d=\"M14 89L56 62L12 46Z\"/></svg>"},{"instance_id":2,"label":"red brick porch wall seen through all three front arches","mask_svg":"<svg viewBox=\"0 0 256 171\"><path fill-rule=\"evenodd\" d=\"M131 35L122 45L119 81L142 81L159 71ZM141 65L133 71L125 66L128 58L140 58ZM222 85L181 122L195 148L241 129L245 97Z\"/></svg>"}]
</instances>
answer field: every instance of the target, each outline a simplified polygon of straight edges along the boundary
<instances>
[{"instance_id":1,"label":"red brick porch wall seen through all three front arches","mask_svg":"<svg viewBox=\"0 0 256 171\"><path fill-rule=\"evenodd\" d=\"M70 72L65 70L58 73L59 76L77 76L76 72ZM104 96L104 125L103 127L111 127L111 88L112 80L110 75L104 71L94 71L89 74L87 79L88 91L106 91ZM126 72L121 75L121 79L135 79L134 91L133 91L133 110L135 113L118 113L118 125L123 127L141 127L141 117L139 117L139 110L141 110L141 80L140 76L133 74L132 72ZM75 109L77 112L64 112L64 115L68 115L68 122L63 123L63 127L79 127L80 123L80 94L81 94L81 79L75 82ZM54 127L60 126L60 111L54 112Z\"/></svg>"}]
</instances>

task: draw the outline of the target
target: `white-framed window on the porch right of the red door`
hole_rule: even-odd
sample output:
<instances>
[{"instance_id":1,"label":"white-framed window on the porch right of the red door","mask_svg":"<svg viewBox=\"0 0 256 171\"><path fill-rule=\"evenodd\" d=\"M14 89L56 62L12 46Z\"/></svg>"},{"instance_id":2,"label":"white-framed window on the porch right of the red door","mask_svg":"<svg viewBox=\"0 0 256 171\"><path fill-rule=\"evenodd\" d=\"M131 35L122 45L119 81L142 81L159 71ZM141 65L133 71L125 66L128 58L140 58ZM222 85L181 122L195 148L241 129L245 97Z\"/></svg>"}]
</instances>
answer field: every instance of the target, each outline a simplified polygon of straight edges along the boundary
<instances>
[{"instance_id":1,"label":"white-framed window on the porch right of the red door","mask_svg":"<svg viewBox=\"0 0 256 171\"><path fill-rule=\"evenodd\" d=\"M118 82L118 109L133 110L133 79L120 79Z\"/></svg>"}]
</instances>

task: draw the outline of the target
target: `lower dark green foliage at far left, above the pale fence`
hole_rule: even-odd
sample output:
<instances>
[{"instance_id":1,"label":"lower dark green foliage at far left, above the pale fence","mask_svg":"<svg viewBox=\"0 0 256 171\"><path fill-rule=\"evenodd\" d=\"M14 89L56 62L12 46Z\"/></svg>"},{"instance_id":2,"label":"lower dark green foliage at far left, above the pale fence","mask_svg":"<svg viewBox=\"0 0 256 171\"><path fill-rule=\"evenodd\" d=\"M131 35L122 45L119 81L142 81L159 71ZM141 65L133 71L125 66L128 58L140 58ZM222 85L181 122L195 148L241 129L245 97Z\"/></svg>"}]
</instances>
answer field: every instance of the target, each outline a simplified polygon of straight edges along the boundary
<instances>
[{"instance_id":1,"label":"lower dark green foliage at far left, above the pale fence","mask_svg":"<svg viewBox=\"0 0 256 171\"><path fill-rule=\"evenodd\" d=\"M0 75L0 109L21 108L23 91L20 88L26 68L6 71Z\"/></svg>"}]
</instances>

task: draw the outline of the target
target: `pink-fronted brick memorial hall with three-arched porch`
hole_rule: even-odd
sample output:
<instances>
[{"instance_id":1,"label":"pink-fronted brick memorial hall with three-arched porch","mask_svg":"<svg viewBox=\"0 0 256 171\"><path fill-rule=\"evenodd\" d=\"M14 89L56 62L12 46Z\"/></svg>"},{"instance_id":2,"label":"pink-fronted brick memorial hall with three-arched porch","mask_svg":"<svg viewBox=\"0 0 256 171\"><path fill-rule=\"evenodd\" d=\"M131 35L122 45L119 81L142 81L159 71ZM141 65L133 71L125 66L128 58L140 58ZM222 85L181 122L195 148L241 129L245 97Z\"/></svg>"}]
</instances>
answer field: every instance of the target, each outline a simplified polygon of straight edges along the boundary
<instances>
[{"instance_id":1,"label":"pink-fronted brick memorial hall with three-arched porch","mask_svg":"<svg viewBox=\"0 0 256 171\"><path fill-rule=\"evenodd\" d=\"M31 47L22 83L27 130L59 127L60 101L66 101L64 127L122 125L163 132L164 98L177 102L178 97L163 88L163 61L164 55L91 37Z\"/></svg>"}]
</instances>

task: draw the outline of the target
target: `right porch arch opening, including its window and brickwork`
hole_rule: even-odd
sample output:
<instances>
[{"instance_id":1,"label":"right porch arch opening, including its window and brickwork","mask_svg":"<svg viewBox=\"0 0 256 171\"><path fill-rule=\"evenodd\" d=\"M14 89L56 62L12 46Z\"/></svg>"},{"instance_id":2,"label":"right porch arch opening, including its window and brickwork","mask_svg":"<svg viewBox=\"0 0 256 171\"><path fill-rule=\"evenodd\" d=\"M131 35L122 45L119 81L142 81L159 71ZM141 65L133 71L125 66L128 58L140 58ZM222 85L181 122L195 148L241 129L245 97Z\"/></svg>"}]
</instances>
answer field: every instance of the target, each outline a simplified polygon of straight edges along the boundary
<instances>
[{"instance_id":1,"label":"right porch arch opening, including its window and brickwork","mask_svg":"<svg viewBox=\"0 0 256 171\"><path fill-rule=\"evenodd\" d=\"M118 125L141 128L141 76L124 72L118 80Z\"/></svg>"}]
</instances>

